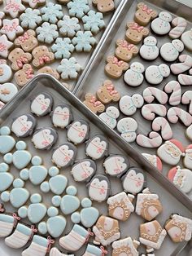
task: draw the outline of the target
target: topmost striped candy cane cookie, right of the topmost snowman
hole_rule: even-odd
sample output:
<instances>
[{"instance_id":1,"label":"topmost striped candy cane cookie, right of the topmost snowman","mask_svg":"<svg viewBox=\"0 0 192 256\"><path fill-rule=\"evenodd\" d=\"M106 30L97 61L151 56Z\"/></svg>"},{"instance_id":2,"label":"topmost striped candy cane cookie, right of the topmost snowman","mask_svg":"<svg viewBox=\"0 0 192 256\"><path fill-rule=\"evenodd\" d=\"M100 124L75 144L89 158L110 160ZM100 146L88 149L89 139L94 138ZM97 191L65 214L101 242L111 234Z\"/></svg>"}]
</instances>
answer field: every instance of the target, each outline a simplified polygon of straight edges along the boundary
<instances>
[{"instance_id":1,"label":"topmost striped candy cane cookie, right of the topmost snowman","mask_svg":"<svg viewBox=\"0 0 192 256\"><path fill-rule=\"evenodd\" d=\"M184 18L181 17L176 17L175 19L172 20L172 26L175 27L173 28L169 33L169 37L176 39L180 38L181 34L185 31L187 22Z\"/></svg>"}]
</instances>

